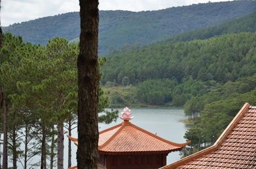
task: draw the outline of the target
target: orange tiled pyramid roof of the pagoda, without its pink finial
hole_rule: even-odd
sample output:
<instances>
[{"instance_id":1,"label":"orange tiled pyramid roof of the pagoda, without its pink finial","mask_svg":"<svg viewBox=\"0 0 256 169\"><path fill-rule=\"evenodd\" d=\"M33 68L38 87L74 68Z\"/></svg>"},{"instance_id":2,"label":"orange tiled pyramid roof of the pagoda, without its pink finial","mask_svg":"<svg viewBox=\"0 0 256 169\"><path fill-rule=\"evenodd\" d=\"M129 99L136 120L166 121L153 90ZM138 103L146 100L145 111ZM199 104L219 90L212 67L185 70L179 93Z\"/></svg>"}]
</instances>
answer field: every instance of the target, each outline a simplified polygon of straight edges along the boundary
<instances>
[{"instance_id":1,"label":"orange tiled pyramid roof of the pagoda, without its pink finial","mask_svg":"<svg viewBox=\"0 0 256 169\"><path fill-rule=\"evenodd\" d=\"M68 136L77 144L77 139ZM99 132L99 151L103 154L127 152L172 152L180 151L186 143L173 143L154 135L129 121Z\"/></svg>"}]
</instances>

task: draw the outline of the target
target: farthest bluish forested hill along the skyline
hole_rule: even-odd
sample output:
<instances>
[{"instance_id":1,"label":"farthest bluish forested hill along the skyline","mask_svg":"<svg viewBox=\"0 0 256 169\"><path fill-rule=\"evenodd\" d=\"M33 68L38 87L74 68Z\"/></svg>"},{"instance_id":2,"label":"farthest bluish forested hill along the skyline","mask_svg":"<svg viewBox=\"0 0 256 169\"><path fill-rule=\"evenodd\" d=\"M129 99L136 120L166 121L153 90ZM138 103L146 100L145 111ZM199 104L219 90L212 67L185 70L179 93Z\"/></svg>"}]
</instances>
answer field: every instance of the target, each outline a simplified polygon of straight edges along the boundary
<instances>
[{"instance_id":1,"label":"farthest bluish forested hill along the skyline","mask_svg":"<svg viewBox=\"0 0 256 169\"><path fill-rule=\"evenodd\" d=\"M243 17L256 11L256 1L193 4L157 11L100 11L99 53L109 47L152 43L185 31ZM79 13L65 13L3 27L4 33L21 35L24 41L41 43L56 36L73 40L79 36Z\"/></svg>"}]
</instances>

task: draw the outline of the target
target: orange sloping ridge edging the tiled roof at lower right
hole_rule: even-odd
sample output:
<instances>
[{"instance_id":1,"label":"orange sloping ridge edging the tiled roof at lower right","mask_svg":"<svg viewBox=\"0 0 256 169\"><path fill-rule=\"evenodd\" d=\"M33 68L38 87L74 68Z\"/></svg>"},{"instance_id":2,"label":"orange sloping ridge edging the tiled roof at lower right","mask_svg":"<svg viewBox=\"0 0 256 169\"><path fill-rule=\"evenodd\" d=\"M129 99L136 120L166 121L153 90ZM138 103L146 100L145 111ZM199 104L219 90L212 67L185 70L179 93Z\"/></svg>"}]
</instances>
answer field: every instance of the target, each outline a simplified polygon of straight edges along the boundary
<instances>
[{"instance_id":1,"label":"orange sloping ridge edging the tiled roof at lower right","mask_svg":"<svg viewBox=\"0 0 256 169\"><path fill-rule=\"evenodd\" d=\"M188 156L186 158L182 158L182 159L176 161L175 163L172 163L167 166L163 166L160 169L176 168L177 166L184 165L185 163L188 163L189 161L192 161L193 159L200 158L200 157L218 149L218 147L220 147L223 140L225 138L227 138L230 131L232 131L232 129L236 126L237 122L241 119L241 117L243 117L243 114L246 112L246 110L248 110L249 107L250 107L249 103L245 103L243 105L241 110L239 110L239 112L237 113L236 117L234 117L234 119L230 122L230 124L228 124L227 128L223 131L223 133L218 138L218 140L214 143L214 145L212 145L211 147L208 147L207 149L204 149L202 151L196 152L195 154L191 154L190 156Z\"/></svg>"}]
</instances>

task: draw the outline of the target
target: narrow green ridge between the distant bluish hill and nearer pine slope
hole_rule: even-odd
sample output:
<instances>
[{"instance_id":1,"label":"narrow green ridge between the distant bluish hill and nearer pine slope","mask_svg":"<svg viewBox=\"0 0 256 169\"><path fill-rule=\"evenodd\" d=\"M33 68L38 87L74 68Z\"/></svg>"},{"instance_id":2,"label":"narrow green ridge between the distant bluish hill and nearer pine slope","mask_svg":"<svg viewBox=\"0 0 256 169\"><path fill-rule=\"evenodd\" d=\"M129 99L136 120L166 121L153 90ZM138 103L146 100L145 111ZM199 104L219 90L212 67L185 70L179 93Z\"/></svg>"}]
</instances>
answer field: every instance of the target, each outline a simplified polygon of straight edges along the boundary
<instances>
[{"instance_id":1,"label":"narrow green ridge between the distant bluish hill and nearer pine slope","mask_svg":"<svg viewBox=\"0 0 256 169\"><path fill-rule=\"evenodd\" d=\"M123 52L131 52L133 50L138 50L139 48L151 47L154 45L163 45L170 43L177 43L181 41L191 41L191 40L205 40L207 38L212 38L214 36L220 36L223 34L231 33L241 33L241 32L251 32L256 31L256 12L250 13L241 18L236 18L228 22L224 22L218 26L210 26L202 29L196 29L193 31L187 31L185 33L180 33L165 40L156 41L154 43L141 45L140 43L135 43L133 45L124 45L120 48L111 47L108 55L115 55Z\"/></svg>"}]
</instances>

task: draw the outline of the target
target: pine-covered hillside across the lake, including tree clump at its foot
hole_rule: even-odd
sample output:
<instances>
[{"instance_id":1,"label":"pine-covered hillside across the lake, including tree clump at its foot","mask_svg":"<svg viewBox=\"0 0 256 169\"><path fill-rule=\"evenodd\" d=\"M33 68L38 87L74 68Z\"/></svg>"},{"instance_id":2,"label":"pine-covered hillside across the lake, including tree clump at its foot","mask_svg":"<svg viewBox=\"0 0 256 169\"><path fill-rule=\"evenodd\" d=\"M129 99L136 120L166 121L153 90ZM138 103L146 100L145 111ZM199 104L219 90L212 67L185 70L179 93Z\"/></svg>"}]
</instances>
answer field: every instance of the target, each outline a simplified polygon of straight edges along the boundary
<instances>
[{"instance_id":1,"label":"pine-covered hillside across the lake, including tree clump at its foot","mask_svg":"<svg viewBox=\"0 0 256 169\"><path fill-rule=\"evenodd\" d=\"M155 45L107 57L102 84L136 85L142 103L182 107L218 84L254 75L255 53L256 33Z\"/></svg>"}]
</instances>

